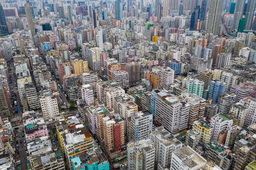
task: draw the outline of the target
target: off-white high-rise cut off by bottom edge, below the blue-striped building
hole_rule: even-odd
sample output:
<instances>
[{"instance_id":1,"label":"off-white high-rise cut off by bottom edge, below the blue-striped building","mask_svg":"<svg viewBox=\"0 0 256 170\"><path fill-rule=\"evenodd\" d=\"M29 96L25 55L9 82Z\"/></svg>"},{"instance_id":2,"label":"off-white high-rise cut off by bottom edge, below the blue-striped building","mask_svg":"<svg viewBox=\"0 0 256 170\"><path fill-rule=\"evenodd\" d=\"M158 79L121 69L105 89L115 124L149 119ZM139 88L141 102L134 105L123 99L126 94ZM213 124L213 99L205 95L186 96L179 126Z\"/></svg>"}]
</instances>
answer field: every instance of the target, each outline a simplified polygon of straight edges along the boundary
<instances>
[{"instance_id":1,"label":"off-white high-rise cut off by bottom edge, below the blue-striped building","mask_svg":"<svg viewBox=\"0 0 256 170\"><path fill-rule=\"evenodd\" d=\"M154 169L154 143L151 139L131 141L127 143L128 169Z\"/></svg>"}]
</instances>

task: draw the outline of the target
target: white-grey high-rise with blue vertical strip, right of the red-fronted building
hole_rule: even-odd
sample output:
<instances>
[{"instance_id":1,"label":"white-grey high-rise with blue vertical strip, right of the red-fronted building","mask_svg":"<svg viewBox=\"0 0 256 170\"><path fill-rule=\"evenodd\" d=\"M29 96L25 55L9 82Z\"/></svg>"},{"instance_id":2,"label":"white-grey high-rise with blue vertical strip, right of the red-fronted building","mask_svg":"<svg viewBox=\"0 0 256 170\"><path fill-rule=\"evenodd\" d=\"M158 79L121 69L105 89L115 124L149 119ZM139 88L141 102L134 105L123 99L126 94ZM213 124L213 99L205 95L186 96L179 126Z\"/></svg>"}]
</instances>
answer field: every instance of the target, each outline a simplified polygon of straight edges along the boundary
<instances>
[{"instance_id":1,"label":"white-grey high-rise with blue vertical strip, right of the red-fronted building","mask_svg":"<svg viewBox=\"0 0 256 170\"><path fill-rule=\"evenodd\" d=\"M129 141L147 139L152 132L153 115L149 111L140 111L131 115L129 121Z\"/></svg>"}]
</instances>

